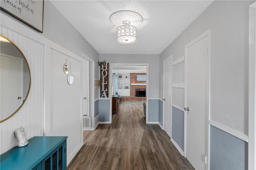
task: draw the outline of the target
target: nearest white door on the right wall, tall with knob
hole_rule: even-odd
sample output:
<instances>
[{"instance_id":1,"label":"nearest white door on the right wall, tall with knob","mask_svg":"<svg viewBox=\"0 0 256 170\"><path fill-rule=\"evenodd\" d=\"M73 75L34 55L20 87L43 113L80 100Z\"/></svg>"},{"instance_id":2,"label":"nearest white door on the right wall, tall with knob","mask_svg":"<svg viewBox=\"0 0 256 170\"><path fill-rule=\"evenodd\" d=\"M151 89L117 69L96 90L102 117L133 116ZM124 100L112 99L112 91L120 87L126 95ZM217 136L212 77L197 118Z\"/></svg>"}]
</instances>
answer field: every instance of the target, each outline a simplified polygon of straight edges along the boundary
<instances>
[{"instance_id":1,"label":"nearest white door on the right wall, tall with knob","mask_svg":"<svg viewBox=\"0 0 256 170\"><path fill-rule=\"evenodd\" d=\"M195 169L208 168L209 47L209 32L186 46L186 158Z\"/></svg>"}]
</instances>

